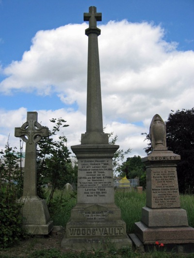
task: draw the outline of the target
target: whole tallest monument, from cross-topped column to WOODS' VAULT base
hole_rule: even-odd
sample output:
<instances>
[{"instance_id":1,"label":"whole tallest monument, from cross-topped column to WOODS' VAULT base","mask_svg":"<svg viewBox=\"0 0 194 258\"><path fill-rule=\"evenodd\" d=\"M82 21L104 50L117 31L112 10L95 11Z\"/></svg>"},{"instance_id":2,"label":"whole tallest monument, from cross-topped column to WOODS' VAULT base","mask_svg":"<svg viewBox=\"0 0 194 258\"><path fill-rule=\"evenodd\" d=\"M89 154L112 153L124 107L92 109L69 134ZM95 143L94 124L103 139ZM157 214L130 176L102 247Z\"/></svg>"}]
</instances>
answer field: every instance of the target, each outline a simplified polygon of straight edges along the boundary
<instances>
[{"instance_id":1,"label":"whole tallest monument, from cross-topped column to WOODS' VAULT base","mask_svg":"<svg viewBox=\"0 0 194 258\"><path fill-rule=\"evenodd\" d=\"M113 155L118 145L109 144L103 133L97 21L101 13L96 7L84 13L89 21L88 80L86 133L81 145L71 146L78 158L78 198L66 225L62 247L74 250L106 248L112 242L116 248L131 245L120 209L114 204Z\"/></svg>"}]
</instances>

